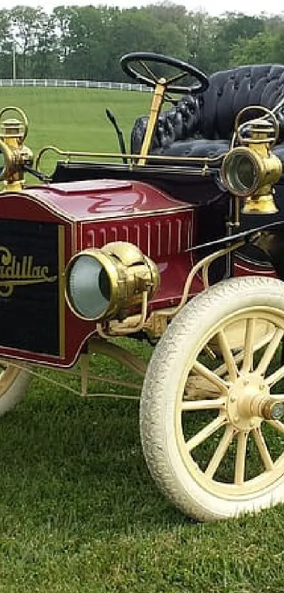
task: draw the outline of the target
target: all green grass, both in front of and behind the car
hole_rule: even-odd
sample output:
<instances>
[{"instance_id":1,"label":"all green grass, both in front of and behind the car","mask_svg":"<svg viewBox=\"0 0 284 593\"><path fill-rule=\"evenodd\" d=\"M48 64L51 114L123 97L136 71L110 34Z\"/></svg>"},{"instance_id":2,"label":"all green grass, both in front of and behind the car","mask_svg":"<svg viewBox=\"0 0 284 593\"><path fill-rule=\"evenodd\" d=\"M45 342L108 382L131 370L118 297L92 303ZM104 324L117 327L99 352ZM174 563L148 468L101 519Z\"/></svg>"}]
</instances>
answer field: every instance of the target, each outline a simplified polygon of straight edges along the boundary
<instances>
[{"instance_id":1,"label":"all green grass, both in front of and behind the car","mask_svg":"<svg viewBox=\"0 0 284 593\"><path fill-rule=\"evenodd\" d=\"M149 95L1 88L30 119L27 145L116 150L108 106L129 138ZM128 344L128 341L125 341ZM149 346L130 348L151 356ZM134 380L94 358L93 372ZM142 457L135 400L82 400L40 371L0 420L0 593L284 592L284 507L218 524L184 517L156 490ZM101 391L99 382L92 391ZM107 387L109 394L128 388Z\"/></svg>"}]
</instances>

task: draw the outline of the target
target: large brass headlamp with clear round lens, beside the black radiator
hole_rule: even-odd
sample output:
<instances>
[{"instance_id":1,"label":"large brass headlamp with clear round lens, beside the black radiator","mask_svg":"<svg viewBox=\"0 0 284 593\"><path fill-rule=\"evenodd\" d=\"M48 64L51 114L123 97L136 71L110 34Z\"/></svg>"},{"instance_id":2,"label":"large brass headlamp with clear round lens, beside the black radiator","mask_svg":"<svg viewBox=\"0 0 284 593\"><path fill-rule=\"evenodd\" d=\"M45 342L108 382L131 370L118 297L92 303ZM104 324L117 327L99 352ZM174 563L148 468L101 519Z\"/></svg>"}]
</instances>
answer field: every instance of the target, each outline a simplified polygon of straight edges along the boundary
<instances>
[{"instance_id":1,"label":"large brass headlamp with clear round lens, beside the black radiator","mask_svg":"<svg viewBox=\"0 0 284 593\"><path fill-rule=\"evenodd\" d=\"M152 259L128 242L101 249L84 249L66 268L66 300L75 315L102 321L123 319L151 298L159 287L159 270Z\"/></svg>"}]
</instances>

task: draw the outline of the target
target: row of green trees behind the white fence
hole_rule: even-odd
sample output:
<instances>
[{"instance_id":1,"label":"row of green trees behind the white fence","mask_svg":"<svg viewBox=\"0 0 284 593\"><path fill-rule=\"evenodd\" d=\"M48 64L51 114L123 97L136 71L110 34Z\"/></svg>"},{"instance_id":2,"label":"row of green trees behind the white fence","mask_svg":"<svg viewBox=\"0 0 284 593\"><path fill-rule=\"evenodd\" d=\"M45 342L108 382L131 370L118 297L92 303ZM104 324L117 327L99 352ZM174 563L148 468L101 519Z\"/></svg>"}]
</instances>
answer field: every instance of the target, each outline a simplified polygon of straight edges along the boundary
<instances>
[{"instance_id":1,"label":"row of green trees behind the white fence","mask_svg":"<svg viewBox=\"0 0 284 593\"><path fill-rule=\"evenodd\" d=\"M207 74L240 64L284 63L284 13L247 16L162 1L142 8L16 6L0 11L0 78L123 81L128 52L172 55Z\"/></svg>"}]
</instances>

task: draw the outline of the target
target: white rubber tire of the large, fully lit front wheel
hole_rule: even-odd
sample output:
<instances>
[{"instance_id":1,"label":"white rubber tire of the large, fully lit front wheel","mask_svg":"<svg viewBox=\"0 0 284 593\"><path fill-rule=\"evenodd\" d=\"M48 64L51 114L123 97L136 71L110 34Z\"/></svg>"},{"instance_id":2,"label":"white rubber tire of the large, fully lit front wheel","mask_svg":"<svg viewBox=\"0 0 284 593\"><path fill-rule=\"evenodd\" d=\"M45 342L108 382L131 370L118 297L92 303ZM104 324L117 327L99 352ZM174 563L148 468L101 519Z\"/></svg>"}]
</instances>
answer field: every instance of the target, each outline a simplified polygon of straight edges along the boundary
<instances>
[{"instance_id":1,"label":"white rubber tire of the large, fully lit front wheel","mask_svg":"<svg viewBox=\"0 0 284 593\"><path fill-rule=\"evenodd\" d=\"M144 457L160 490L186 515L214 521L257 512L284 500L284 474L254 495L219 497L188 471L175 432L178 382L210 328L247 307L271 307L284 315L284 283L257 276L231 278L197 295L176 315L147 368L140 404Z\"/></svg>"}]
</instances>

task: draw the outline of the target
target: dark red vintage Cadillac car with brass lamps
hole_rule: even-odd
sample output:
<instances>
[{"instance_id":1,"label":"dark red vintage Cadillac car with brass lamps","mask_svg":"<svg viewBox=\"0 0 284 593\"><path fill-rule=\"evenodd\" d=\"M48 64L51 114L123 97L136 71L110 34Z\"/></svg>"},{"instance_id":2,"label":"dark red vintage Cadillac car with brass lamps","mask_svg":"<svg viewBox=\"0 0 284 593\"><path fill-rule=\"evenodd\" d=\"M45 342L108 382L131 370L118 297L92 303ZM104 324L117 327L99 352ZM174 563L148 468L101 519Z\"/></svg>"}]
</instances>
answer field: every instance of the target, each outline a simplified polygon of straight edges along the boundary
<instances>
[{"instance_id":1,"label":"dark red vintage Cadillac car with brass lamps","mask_svg":"<svg viewBox=\"0 0 284 593\"><path fill-rule=\"evenodd\" d=\"M38 365L80 360L86 395L107 354L144 378L144 457L172 503L256 512L284 500L284 66L121 65L153 90L129 152L108 111L120 153L34 165L25 114L1 110L0 413ZM147 368L120 336L152 344Z\"/></svg>"}]
</instances>

